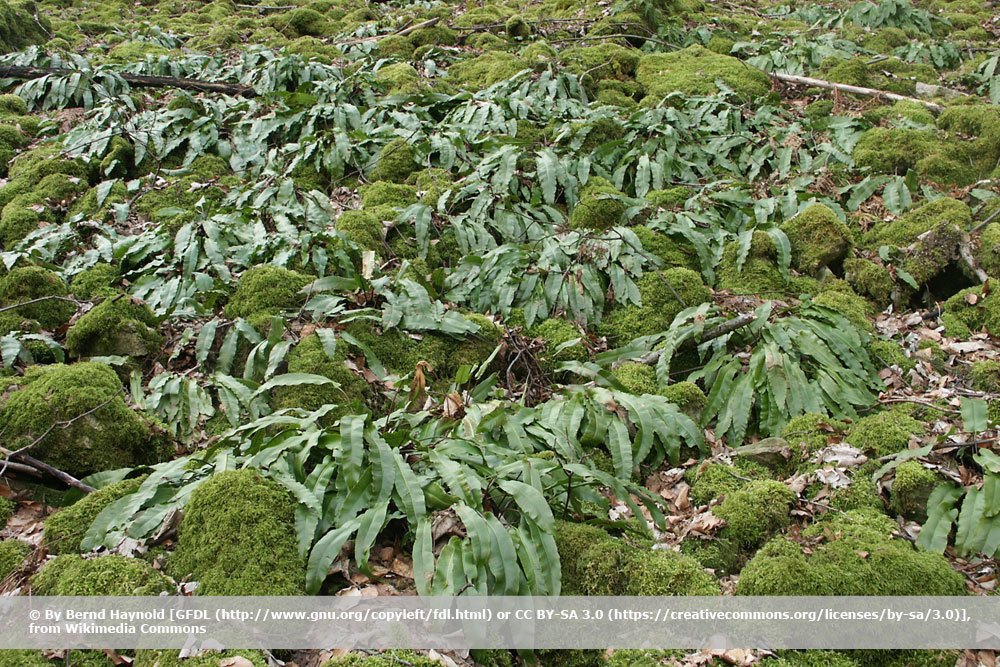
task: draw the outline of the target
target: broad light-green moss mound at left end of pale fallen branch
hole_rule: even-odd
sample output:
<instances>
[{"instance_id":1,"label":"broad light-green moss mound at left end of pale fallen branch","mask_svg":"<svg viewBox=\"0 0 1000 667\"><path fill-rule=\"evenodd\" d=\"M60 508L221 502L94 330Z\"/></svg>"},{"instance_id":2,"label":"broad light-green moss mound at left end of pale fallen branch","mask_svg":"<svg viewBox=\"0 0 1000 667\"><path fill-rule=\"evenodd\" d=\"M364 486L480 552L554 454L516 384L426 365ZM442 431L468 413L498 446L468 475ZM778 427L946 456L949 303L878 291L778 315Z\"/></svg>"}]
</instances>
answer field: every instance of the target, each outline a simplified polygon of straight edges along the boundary
<instances>
[{"instance_id":1,"label":"broad light-green moss mound at left end of pale fallen branch","mask_svg":"<svg viewBox=\"0 0 1000 667\"><path fill-rule=\"evenodd\" d=\"M711 95L718 92L717 80L743 100L764 97L771 89L771 80L764 72L697 45L673 53L642 56L635 78L653 102L673 92Z\"/></svg>"}]
</instances>

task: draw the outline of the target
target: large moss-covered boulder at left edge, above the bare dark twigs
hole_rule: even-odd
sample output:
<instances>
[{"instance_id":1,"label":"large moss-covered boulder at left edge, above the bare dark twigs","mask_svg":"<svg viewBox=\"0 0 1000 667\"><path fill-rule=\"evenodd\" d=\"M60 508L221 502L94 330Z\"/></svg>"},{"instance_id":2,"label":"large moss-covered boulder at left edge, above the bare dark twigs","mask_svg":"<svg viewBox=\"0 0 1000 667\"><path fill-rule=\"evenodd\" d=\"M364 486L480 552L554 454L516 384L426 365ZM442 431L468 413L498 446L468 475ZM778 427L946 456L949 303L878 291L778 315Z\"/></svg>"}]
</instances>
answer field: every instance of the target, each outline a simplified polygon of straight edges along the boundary
<instances>
[{"instance_id":1,"label":"large moss-covered boulder at left edge, above the bare dark twigs","mask_svg":"<svg viewBox=\"0 0 1000 667\"><path fill-rule=\"evenodd\" d=\"M34 445L33 455L71 475L83 476L156 463L166 453L162 436L125 404L115 372L98 363L29 369L24 386L0 405L0 429L9 442L23 445L52 424L84 413L88 413L85 419L53 431Z\"/></svg>"}]
</instances>

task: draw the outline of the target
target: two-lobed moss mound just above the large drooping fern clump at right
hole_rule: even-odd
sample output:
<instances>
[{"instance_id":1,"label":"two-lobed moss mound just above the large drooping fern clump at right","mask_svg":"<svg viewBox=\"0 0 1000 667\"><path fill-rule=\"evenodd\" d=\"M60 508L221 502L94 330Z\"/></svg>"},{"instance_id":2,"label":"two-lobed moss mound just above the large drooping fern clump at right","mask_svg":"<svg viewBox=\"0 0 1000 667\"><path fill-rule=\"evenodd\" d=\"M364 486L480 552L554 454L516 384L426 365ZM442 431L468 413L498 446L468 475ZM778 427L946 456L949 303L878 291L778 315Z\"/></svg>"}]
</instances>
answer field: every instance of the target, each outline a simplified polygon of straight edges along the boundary
<instances>
[{"instance_id":1,"label":"two-lobed moss mound just above the large drooping fern clump at right","mask_svg":"<svg viewBox=\"0 0 1000 667\"><path fill-rule=\"evenodd\" d=\"M642 305L616 306L600 325L602 333L615 344L666 331L679 312L712 298L701 276L690 269L645 273L637 285Z\"/></svg>"}]
</instances>

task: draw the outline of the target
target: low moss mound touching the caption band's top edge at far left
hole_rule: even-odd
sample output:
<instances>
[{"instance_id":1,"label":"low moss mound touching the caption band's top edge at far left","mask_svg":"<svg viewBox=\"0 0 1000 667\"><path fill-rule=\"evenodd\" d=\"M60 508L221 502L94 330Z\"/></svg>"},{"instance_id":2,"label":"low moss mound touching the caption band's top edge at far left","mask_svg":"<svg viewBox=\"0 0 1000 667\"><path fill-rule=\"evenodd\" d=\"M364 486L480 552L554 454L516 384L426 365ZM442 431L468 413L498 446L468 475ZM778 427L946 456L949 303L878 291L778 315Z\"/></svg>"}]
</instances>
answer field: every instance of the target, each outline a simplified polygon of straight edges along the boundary
<instances>
[{"instance_id":1,"label":"low moss mound touching the caption band's top edge at far left","mask_svg":"<svg viewBox=\"0 0 1000 667\"><path fill-rule=\"evenodd\" d=\"M148 563L125 556L56 556L31 578L36 595L159 595L175 587Z\"/></svg>"}]
</instances>

